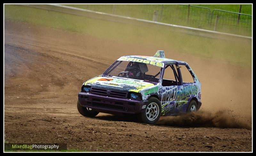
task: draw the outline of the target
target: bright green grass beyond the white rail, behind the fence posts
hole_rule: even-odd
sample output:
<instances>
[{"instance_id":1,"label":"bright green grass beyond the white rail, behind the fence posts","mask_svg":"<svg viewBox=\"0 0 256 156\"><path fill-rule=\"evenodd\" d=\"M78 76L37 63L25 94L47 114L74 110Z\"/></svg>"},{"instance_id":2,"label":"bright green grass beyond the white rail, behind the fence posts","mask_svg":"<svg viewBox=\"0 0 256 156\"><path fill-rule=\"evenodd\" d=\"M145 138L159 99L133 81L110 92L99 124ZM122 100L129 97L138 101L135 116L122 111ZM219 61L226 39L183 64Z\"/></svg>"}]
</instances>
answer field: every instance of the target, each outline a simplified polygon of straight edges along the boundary
<instances>
[{"instance_id":1,"label":"bright green grass beyond the white rail, behind the fence posts","mask_svg":"<svg viewBox=\"0 0 256 156\"><path fill-rule=\"evenodd\" d=\"M240 22L237 24L237 14L226 12L213 12L214 9L238 12L239 4L192 4L188 20L188 6L178 4L66 4L68 6L124 15L139 19L153 19L155 10L159 11L158 21L181 26L190 26L201 29L214 30L217 14L220 14L217 31L225 33L235 33L239 35L252 36L252 18L241 15ZM192 6L207 7L202 9ZM162 10L162 15L160 18ZM210 13L210 16L209 16ZM241 13L252 14L251 4L242 4ZM212 24L211 24L212 23Z\"/></svg>"}]
</instances>

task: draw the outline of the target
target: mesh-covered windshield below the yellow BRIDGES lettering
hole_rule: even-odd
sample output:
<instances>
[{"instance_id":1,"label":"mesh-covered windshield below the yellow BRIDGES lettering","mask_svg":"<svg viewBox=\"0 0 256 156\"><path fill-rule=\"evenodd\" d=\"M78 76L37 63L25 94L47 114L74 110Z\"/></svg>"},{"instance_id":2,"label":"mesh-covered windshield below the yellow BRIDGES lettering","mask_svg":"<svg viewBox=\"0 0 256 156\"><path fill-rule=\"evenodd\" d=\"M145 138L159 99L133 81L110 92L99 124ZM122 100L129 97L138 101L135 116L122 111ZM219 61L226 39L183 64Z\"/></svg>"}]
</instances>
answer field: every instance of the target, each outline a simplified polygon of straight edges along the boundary
<instances>
[{"instance_id":1,"label":"mesh-covered windshield below the yellow BRIDGES lettering","mask_svg":"<svg viewBox=\"0 0 256 156\"><path fill-rule=\"evenodd\" d=\"M161 67L129 61L116 61L103 75L159 82Z\"/></svg>"}]
</instances>

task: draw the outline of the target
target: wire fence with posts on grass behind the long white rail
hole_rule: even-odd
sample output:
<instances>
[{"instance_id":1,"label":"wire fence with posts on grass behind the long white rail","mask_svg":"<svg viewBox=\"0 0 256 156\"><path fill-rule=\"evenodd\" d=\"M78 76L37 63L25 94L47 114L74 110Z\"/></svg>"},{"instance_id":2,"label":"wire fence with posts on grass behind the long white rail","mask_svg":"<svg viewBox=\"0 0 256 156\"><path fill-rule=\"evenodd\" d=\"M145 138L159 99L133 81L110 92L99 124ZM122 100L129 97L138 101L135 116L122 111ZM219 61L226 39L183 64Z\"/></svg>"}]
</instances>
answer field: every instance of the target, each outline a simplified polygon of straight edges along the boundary
<instances>
[{"instance_id":1,"label":"wire fence with posts on grass behind the long white rail","mask_svg":"<svg viewBox=\"0 0 256 156\"><path fill-rule=\"evenodd\" d=\"M138 19L252 36L252 15L213 10L187 4L85 4L70 5Z\"/></svg>"}]
</instances>

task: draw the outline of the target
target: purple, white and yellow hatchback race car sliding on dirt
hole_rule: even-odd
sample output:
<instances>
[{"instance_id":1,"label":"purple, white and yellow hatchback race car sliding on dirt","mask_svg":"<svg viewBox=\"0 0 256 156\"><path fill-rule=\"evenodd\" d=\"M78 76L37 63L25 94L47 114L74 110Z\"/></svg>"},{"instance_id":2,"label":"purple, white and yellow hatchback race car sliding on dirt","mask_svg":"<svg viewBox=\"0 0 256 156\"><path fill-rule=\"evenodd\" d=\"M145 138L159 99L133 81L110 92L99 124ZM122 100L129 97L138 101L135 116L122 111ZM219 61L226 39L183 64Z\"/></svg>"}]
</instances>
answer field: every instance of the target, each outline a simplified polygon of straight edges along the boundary
<instances>
[{"instance_id":1,"label":"purple, white and yellow hatchback race car sliding on dirt","mask_svg":"<svg viewBox=\"0 0 256 156\"><path fill-rule=\"evenodd\" d=\"M192 82L183 81L183 72ZM165 58L163 50L153 57L120 57L103 74L83 83L77 101L79 113L86 117L121 113L150 124L161 115L195 112L201 105L201 83L194 71L186 62Z\"/></svg>"}]
</instances>

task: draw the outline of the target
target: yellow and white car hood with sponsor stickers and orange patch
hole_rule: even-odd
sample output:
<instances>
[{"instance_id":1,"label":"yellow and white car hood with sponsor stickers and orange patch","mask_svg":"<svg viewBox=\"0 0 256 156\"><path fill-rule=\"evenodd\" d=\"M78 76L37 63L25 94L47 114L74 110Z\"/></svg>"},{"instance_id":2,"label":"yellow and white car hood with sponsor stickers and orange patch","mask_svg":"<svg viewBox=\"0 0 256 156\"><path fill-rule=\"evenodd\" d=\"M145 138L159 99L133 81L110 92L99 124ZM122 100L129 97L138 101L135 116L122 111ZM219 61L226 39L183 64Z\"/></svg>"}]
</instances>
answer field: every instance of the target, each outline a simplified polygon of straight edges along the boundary
<instances>
[{"instance_id":1,"label":"yellow and white car hood with sponsor stickers and orange patch","mask_svg":"<svg viewBox=\"0 0 256 156\"><path fill-rule=\"evenodd\" d=\"M143 80L135 80L130 78L98 76L86 81L84 85L90 85L92 87L97 87L97 88L105 88L105 89L138 93L140 90L148 88L154 84L150 82L145 82Z\"/></svg>"}]
</instances>

